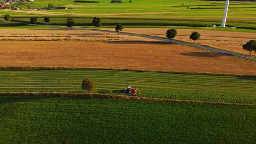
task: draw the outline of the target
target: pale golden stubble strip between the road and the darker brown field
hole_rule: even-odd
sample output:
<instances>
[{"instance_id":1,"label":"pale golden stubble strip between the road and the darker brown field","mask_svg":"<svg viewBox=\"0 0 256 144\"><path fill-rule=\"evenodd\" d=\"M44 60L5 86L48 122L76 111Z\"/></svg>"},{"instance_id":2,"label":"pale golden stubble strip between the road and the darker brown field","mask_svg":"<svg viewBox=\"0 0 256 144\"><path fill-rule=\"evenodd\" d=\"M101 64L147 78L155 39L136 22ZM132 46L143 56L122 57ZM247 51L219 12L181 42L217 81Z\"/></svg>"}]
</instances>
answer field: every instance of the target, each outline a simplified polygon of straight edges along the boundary
<instances>
[{"instance_id":1,"label":"pale golden stubble strip between the road and the darker brown field","mask_svg":"<svg viewBox=\"0 0 256 144\"><path fill-rule=\"evenodd\" d=\"M1 29L1 41L152 41L147 38L89 30Z\"/></svg>"}]
</instances>

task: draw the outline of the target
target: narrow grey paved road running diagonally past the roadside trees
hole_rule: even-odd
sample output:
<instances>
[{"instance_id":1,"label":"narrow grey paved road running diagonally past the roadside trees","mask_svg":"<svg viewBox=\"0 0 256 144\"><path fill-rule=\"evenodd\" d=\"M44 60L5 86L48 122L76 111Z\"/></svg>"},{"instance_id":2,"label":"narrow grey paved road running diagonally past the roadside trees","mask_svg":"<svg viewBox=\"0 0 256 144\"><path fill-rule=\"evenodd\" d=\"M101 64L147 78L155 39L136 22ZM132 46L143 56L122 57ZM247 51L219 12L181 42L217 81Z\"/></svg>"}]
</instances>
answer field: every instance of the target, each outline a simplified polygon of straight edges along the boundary
<instances>
[{"instance_id":1,"label":"narrow grey paved road running diagonally past the roadside trees","mask_svg":"<svg viewBox=\"0 0 256 144\"><path fill-rule=\"evenodd\" d=\"M30 25L32 25L32 24L30 24ZM38 25L38 26L45 26L45 25ZM66 28L65 26L53 26L53 25L48 25L48 27ZM97 32L115 33L115 34L117 33L115 31L101 30L101 29L89 29L89 28L78 28L78 27L73 27L73 29L83 29L83 30L90 30L90 31L97 31ZM136 36L136 37L149 38L149 39L159 40L159 41L162 41L162 42L170 42L170 39L163 38L163 37L158 37L158 36L140 35L140 34L128 33L128 32L120 32L119 34L127 35L127 36ZM205 49L205 50L209 50L209 51L213 51L213 52L218 52L218 53L221 53L221 54L227 54L227 55L231 55L231 56L237 56L237 57L240 57L240 58L245 58L245 59L248 59L248 60L256 61L255 56L249 56L249 55L245 55L245 54L239 54L239 53L236 53L236 52L220 50L220 49L213 48L213 47L210 47L210 46L195 45L195 44L192 44L192 43L178 41L178 40L172 40L172 43L180 44L180 45L187 45L187 46L201 48L201 49Z\"/></svg>"}]
</instances>

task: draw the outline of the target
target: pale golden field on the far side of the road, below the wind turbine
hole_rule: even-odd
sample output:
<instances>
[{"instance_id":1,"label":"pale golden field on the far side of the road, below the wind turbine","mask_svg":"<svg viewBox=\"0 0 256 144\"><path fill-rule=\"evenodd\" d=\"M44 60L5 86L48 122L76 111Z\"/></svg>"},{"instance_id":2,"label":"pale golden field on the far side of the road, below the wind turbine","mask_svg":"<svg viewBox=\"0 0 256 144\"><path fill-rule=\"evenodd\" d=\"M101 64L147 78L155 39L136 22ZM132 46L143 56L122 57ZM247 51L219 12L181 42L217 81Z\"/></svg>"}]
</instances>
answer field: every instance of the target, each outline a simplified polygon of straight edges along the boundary
<instances>
[{"instance_id":1,"label":"pale golden field on the far side of the road, below the wind turbine","mask_svg":"<svg viewBox=\"0 0 256 144\"><path fill-rule=\"evenodd\" d=\"M147 34L153 36L166 36L167 29L146 29L146 28L126 28L124 31L133 32L139 34ZM243 33L243 32L225 32L225 31L210 31L210 30L190 30L190 29L176 29L178 34L174 38L176 40L182 40L192 42L189 39L190 34L193 31L197 31L201 34L200 40L196 43L202 45L209 45L212 47L230 50L238 53L249 54L248 51L243 50L242 45L252 39L256 39L255 33ZM256 53L253 53L256 56Z\"/></svg>"}]
</instances>

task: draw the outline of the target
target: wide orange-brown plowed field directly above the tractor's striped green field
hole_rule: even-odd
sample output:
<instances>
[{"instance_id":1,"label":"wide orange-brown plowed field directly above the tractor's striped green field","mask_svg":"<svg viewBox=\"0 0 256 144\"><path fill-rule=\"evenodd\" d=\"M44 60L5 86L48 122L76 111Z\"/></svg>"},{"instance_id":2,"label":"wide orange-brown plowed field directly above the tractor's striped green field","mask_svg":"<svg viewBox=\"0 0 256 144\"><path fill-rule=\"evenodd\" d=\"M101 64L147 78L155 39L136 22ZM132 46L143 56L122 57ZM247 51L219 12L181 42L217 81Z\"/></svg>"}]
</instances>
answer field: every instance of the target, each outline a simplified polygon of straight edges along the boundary
<instances>
[{"instance_id":1,"label":"wide orange-brown plowed field directly above the tractor's striped green field","mask_svg":"<svg viewBox=\"0 0 256 144\"><path fill-rule=\"evenodd\" d=\"M256 75L256 62L153 42L2 41L0 66L97 67Z\"/></svg>"}]
</instances>

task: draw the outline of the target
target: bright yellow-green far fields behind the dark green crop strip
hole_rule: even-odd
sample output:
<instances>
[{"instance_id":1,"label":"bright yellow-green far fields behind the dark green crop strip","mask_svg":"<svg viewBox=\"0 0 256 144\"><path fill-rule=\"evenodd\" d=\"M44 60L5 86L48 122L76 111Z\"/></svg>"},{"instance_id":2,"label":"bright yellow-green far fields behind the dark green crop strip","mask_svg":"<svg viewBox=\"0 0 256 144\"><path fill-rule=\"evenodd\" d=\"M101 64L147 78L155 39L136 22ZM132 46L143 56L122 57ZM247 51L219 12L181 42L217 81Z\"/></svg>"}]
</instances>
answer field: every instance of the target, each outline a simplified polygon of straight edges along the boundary
<instances>
[{"instance_id":1,"label":"bright yellow-green far fields behind the dark green crop strip","mask_svg":"<svg viewBox=\"0 0 256 144\"><path fill-rule=\"evenodd\" d=\"M27 9L47 7L48 3L53 3L55 6L66 6L69 9L65 10L50 10L51 12L66 12L66 13L89 13L89 14L108 14L108 13L143 13L136 14L137 17L212 17L221 18L225 2L221 1L195 1L195 0L123 0L124 3L112 4L108 3L111 0L100 0L100 3L74 3L73 0L55 1L55 0L35 0L26 4L18 4L19 7ZM237 5L232 5L239 3ZM243 4L241 4L243 3ZM182 4L184 5L183 7ZM17 5L17 4L14 4ZM216 6L217 5L217 6ZM180 6L180 7L174 7ZM200 9L187 9L197 8ZM207 8L207 9L206 9ZM255 16L256 2L231 2L230 3L230 18L256 18ZM145 14L145 12L147 14ZM150 12L170 12L168 14L150 13ZM126 14L125 16L134 16Z\"/></svg>"}]
</instances>

